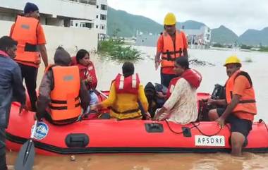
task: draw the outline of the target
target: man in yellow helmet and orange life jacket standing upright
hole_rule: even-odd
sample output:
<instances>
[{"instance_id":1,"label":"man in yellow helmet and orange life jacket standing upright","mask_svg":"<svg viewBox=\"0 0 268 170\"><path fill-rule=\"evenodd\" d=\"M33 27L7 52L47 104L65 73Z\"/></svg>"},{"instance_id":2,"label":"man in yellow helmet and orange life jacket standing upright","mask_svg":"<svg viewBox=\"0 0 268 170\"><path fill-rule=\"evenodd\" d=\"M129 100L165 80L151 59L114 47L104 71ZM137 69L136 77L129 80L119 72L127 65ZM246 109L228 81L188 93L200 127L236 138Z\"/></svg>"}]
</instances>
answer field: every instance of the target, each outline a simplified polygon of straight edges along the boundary
<instances>
[{"instance_id":1,"label":"man in yellow helmet and orange life jacket standing upright","mask_svg":"<svg viewBox=\"0 0 268 170\"><path fill-rule=\"evenodd\" d=\"M180 56L188 57L188 44L184 32L176 30L176 17L167 13L164 18L164 32L157 41L157 54L154 58L155 69L161 63L161 84L169 87L172 78L176 78L173 71L174 61ZM161 59L160 59L161 55Z\"/></svg>"}]
</instances>

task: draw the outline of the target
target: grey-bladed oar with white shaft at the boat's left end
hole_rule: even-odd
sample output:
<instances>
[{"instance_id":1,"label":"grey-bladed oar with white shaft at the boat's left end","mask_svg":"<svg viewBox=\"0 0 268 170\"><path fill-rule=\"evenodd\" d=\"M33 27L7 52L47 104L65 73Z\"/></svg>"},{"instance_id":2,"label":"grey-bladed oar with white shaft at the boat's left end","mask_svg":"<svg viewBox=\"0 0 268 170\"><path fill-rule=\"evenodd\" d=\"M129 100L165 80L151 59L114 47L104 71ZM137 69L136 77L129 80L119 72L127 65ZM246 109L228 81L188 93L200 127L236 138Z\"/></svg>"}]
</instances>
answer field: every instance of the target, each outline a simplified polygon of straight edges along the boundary
<instances>
[{"instance_id":1,"label":"grey-bladed oar with white shaft at the boat's left end","mask_svg":"<svg viewBox=\"0 0 268 170\"><path fill-rule=\"evenodd\" d=\"M23 144L23 146L20 148L20 152L18 152L18 157L15 163L15 170L32 170L32 166L35 160L35 145L33 138L35 135L35 130L37 128L36 126L37 121L35 121L30 139Z\"/></svg>"}]
</instances>

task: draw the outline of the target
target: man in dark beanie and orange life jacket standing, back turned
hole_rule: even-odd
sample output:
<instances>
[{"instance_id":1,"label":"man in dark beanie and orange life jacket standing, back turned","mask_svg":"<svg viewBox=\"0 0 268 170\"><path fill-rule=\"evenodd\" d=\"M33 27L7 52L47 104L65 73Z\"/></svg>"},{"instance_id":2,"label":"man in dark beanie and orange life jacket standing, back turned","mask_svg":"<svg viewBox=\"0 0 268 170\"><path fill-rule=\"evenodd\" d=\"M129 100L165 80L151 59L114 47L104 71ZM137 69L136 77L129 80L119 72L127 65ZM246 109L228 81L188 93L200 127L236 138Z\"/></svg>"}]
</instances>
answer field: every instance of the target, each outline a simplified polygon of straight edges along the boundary
<instances>
[{"instance_id":1,"label":"man in dark beanie and orange life jacket standing, back turned","mask_svg":"<svg viewBox=\"0 0 268 170\"><path fill-rule=\"evenodd\" d=\"M46 39L39 24L39 9L35 4L27 3L24 15L17 16L11 27L11 37L18 41L18 50L15 61L21 69L22 77L30 97L32 111L36 111L36 80L41 53L44 66L48 66Z\"/></svg>"}]
</instances>

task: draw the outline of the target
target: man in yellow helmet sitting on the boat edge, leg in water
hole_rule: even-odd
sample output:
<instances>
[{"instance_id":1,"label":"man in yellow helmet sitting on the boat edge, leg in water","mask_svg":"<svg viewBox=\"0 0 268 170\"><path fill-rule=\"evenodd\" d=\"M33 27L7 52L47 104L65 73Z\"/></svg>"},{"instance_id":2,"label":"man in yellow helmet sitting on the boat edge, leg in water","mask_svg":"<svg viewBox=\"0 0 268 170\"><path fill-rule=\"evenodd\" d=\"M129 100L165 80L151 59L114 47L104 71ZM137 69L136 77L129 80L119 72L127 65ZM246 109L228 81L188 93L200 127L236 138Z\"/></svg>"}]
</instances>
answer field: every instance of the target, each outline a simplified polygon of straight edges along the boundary
<instances>
[{"instance_id":1,"label":"man in yellow helmet sitting on the boat edge, leg in water","mask_svg":"<svg viewBox=\"0 0 268 170\"><path fill-rule=\"evenodd\" d=\"M243 143L252 128L252 121L257 114L255 92L250 75L240 71L242 66L237 56L226 59L226 99L208 99L208 104L227 105L226 109L212 109L209 119L217 121L221 127L224 122L231 124L231 154L240 156Z\"/></svg>"}]
</instances>

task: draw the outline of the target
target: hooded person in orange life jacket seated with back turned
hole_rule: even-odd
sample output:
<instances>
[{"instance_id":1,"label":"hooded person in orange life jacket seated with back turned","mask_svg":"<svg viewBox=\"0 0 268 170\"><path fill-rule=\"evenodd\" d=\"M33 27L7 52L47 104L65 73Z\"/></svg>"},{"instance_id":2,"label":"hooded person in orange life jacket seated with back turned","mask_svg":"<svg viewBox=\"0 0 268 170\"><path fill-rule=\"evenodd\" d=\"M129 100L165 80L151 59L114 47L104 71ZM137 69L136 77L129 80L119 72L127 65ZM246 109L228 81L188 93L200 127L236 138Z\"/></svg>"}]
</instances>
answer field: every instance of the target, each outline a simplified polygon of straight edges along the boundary
<instances>
[{"instance_id":1,"label":"hooded person in orange life jacket seated with back turned","mask_svg":"<svg viewBox=\"0 0 268 170\"><path fill-rule=\"evenodd\" d=\"M55 64L47 68L39 87L37 119L62 125L73 123L90 104L85 84L80 81L78 66L69 66L71 56L62 47L54 55Z\"/></svg>"}]
</instances>

